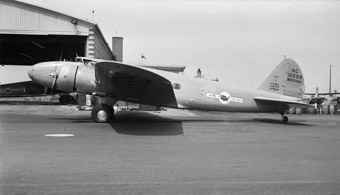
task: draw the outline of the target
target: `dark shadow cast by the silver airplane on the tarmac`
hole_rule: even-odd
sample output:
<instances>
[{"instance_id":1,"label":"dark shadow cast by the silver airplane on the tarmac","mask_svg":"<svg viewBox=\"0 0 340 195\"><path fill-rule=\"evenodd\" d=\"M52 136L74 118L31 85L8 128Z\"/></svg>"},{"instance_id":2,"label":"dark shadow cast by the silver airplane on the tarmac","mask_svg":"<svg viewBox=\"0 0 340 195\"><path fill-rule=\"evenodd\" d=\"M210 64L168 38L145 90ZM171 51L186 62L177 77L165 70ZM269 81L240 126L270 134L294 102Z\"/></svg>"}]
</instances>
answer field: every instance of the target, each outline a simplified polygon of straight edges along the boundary
<instances>
[{"instance_id":1,"label":"dark shadow cast by the silver airplane on the tarmac","mask_svg":"<svg viewBox=\"0 0 340 195\"><path fill-rule=\"evenodd\" d=\"M91 117L70 116L69 118L49 118L54 120L71 120L72 123L91 123ZM183 134L182 123L185 122L261 122L269 124L282 124L281 120L254 118L254 119L213 119L207 117L177 117L176 119L161 117L148 112L121 112L115 115L109 125L119 134L137 136L174 136ZM284 125L313 126L291 121ZM208 125L209 123L207 123Z\"/></svg>"}]
</instances>

